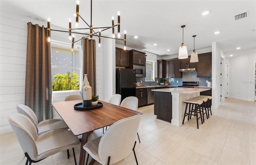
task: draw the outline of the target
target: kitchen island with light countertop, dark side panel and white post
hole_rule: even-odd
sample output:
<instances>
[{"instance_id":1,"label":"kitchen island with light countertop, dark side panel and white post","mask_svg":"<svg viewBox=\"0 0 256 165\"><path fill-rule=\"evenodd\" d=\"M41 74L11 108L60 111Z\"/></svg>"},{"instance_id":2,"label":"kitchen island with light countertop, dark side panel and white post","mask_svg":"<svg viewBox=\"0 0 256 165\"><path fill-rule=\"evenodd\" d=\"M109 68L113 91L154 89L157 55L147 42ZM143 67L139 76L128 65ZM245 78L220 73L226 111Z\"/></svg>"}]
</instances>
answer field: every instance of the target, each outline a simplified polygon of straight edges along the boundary
<instances>
[{"instance_id":1,"label":"kitchen island with light countertop, dark side panel and white post","mask_svg":"<svg viewBox=\"0 0 256 165\"><path fill-rule=\"evenodd\" d=\"M155 92L154 114L157 116L157 119L180 126L182 125L186 107L183 101L197 97L201 91L207 90L210 90L210 88L173 87L152 89Z\"/></svg>"}]
</instances>

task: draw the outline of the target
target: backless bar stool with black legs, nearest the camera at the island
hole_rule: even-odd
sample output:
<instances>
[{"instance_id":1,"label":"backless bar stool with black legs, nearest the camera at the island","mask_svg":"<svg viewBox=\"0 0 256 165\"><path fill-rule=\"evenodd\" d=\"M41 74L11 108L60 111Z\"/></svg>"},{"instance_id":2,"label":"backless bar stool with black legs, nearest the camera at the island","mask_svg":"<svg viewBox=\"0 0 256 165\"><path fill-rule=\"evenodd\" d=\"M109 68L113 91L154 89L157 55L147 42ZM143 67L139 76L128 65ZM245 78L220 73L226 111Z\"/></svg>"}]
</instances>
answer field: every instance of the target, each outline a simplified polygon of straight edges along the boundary
<instances>
[{"instance_id":1,"label":"backless bar stool with black legs, nearest the camera at the island","mask_svg":"<svg viewBox=\"0 0 256 165\"><path fill-rule=\"evenodd\" d=\"M192 113L194 112L193 116L196 116L196 123L197 123L197 129L198 129L198 119L201 118L201 122L203 124L202 114L201 114L201 110L200 110L200 107L201 107L203 101L197 100L197 99L188 99L183 102L186 103L186 109L184 112L182 124L184 124L185 117L188 116L188 121L189 121L189 119L191 118L190 116L193 115ZM189 104L189 109L188 109L188 104ZM191 105L192 105L192 107L191 107ZM195 108L193 109L194 106L195 106ZM188 109L188 113L187 113L187 109ZM198 113L200 113L200 117L198 117Z\"/></svg>"}]
</instances>

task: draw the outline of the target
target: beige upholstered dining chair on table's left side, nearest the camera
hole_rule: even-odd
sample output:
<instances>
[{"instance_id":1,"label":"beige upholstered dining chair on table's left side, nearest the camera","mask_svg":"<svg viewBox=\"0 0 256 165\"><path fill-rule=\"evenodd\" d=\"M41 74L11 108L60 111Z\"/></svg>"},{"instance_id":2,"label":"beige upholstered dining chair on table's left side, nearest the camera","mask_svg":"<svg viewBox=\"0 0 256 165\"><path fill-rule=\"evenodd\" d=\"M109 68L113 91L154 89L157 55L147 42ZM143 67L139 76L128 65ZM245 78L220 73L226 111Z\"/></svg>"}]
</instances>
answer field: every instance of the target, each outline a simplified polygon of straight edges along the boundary
<instances>
[{"instance_id":1,"label":"beige upholstered dining chair on table's left side, nearest the camera","mask_svg":"<svg viewBox=\"0 0 256 165\"><path fill-rule=\"evenodd\" d=\"M76 165L74 147L78 147L80 144L78 137L68 129L54 129L38 136L36 126L27 116L12 113L8 116L8 121L27 158L26 165L28 162L31 165L31 163L39 162L70 148L73 149Z\"/></svg>"}]
</instances>

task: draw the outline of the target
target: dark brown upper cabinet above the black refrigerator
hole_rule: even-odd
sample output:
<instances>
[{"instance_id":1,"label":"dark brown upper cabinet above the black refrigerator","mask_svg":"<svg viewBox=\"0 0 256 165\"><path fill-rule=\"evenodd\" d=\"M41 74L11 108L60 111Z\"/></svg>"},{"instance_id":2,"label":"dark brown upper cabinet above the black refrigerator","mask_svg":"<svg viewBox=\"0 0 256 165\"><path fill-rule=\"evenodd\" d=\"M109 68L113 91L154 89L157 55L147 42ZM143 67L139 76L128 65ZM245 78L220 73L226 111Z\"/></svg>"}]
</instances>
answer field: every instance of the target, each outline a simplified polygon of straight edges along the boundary
<instances>
[{"instance_id":1,"label":"dark brown upper cabinet above the black refrigerator","mask_svg":"<svg viewBox=\"0 0 256 165\"><path fill-rule=\"evenodd\" d=\"M116 66L128 67L130 65L129 51L116 48Z\"/></svg>"}]
</instances>

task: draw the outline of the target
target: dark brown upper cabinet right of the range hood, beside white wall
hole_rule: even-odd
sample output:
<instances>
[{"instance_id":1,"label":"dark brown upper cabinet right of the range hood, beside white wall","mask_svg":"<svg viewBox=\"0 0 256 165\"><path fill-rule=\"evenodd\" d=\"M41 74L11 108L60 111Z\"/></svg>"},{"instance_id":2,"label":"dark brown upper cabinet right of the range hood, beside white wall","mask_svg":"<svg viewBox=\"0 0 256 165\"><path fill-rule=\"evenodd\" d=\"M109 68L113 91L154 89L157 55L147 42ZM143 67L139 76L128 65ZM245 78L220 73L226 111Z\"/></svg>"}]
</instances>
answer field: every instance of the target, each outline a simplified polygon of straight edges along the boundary
<instances>
[{"instance_id":1,"label":"dark brown upper cabinet right of the range hood, beside white wall","mask_svg":"<svg viewBox=\"0 0 256 165\"><path fill-rule=\"evenodd\" d=\"M197 77L212 77L212 52L198 54Z\"/></svg>"}]
</instances>

